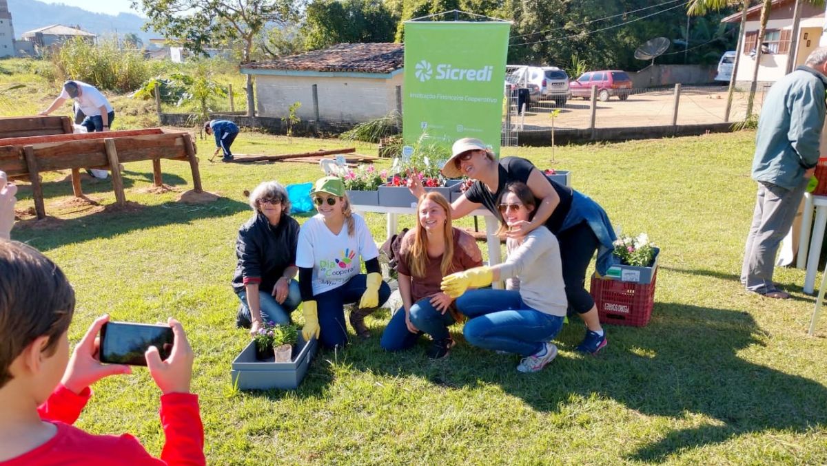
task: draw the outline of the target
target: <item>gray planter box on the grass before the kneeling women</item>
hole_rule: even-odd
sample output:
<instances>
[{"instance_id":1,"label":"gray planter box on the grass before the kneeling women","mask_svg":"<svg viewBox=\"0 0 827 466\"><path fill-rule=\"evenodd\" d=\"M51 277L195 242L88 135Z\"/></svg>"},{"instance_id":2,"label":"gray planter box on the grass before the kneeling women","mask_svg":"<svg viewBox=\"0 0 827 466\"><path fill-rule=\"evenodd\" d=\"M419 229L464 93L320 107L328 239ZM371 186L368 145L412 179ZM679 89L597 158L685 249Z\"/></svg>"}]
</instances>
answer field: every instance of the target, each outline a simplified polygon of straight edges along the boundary
<instances>
[{"instance_id":1,"label":"gray planter box on the grass before the kneeling women","mask_svg":"<svg viewBox=\"0 0 827 466\"><path fill-rule=\"evenodd\" d=\"M256 343L251 341L232 361L232 383L241 390L299 388L317 346L316 339L305 342L299 333L299 343L293 347L293 362L275 363L256 360Z\"/></svg>"}]
</instances>

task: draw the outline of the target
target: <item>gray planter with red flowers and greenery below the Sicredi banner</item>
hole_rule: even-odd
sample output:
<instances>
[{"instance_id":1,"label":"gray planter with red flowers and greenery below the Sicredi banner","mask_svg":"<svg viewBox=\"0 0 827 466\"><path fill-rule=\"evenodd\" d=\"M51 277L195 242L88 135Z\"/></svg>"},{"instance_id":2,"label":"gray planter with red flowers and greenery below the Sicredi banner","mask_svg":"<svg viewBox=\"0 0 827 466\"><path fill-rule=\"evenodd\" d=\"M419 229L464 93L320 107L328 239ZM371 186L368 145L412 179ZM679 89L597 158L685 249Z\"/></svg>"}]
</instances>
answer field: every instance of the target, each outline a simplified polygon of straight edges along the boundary
<instances>
[{"instance_id":1,"label":"gray planter with red flowers and greenery below the Sicredi banner","mask_svg":"<svg viewBox=\"0 0 827 466\"><path fill-rule=\"evenodd\" d=\"M394 159L388 182L379 187L379 203L387 207L414 207L416 198L410 193L408 174L415 174L425 191L439 191L448 201L451 193L458 190L461 180L447 179L442 176L442 166L449 159L446 147L427 140L424 135L414 146L402 150L402 158Z\"/></svg>"}]
</instances>

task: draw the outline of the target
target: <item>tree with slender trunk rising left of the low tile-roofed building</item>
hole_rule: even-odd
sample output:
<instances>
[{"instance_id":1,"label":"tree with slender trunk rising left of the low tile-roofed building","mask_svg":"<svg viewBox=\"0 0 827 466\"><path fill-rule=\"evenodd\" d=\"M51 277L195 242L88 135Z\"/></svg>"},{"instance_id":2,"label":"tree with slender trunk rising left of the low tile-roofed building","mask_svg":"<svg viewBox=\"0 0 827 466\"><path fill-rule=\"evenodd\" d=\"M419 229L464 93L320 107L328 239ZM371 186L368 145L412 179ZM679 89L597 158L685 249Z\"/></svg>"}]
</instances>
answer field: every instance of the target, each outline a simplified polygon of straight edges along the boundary
<instances>
[{"instance_id":1,"label":"tree with slender trunk rising left of the low tile-roofed building","mask_svg":"<svg viewBox=\"0 0 827 466\"><path fill-rule=\"evenodd\" d=\"M211 44L232 40L243 43L242 62L251 59L256 38L268 21L286 24L298 16L300 0L133 0L143 12L144 25L184 47L204 53ZM247 113L255 115L252 76L246 75Z\"/></svg>"}]
</instances>

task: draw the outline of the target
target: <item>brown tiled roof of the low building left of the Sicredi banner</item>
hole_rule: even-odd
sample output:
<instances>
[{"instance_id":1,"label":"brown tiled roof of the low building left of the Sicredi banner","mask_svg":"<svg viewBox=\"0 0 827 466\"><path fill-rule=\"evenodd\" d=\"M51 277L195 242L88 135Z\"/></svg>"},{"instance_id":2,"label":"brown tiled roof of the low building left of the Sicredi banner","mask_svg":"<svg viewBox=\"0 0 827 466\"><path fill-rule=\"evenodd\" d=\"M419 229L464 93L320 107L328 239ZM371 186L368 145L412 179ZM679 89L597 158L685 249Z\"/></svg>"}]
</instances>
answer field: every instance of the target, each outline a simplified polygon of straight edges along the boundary
<instances>
[{"instance_id":1,"label":"brown tiled roof of the low building left of the Sicredi banner","mask_svg":"<svg viewBox=\"0 0 827 466\"><path fill-rule=\"evenodd\" d=\"M402 44L338 44L283 59L253 62L242 68L385 74L401 69L403 58Z\"/></svg>"}]
</instances>

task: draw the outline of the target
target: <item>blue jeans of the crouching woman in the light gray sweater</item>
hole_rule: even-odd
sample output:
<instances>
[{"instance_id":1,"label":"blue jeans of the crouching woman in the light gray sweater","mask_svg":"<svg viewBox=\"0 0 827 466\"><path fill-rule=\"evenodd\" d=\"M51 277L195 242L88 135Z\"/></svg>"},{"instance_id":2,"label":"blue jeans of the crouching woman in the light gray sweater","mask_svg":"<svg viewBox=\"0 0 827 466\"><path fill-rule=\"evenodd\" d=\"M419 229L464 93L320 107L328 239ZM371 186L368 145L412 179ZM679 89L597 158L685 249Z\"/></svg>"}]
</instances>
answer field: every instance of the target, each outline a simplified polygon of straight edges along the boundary
<instances>
[{"instance_id":1,"label":"blue jeans of the crouching woman in the light gray sweater","mask_svg":"<svg viewBox=\"0 0 827 466\"><path fill-rule=\"evenodd\" d=\"M563 318L528 307L519 291L468 290L457 309L469 317L462 330L471 345L529 356L543 349L563 326Z\"/></svg>"}]
</instances>

